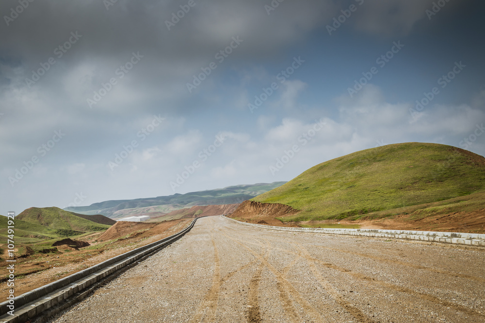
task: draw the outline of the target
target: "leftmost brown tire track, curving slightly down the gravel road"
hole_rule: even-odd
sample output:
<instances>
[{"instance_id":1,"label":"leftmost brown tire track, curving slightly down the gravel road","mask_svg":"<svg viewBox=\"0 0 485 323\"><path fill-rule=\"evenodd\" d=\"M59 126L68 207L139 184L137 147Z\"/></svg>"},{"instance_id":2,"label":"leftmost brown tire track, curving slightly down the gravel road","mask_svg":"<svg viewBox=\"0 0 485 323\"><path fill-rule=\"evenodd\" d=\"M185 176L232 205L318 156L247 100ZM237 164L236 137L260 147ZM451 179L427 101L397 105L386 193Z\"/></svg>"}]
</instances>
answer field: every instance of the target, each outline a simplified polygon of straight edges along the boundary
<instances>
[{"instance_id":1,"label":"leftmost brown tire track, curving slightly down the gravel road","mask_svg":"<svg viewBox=\"0 0 485 323\"><path fill-rule=\"evenodd\" d=\"M214 247L214 274L212 276L212 287L207 293L204 302L197 310L197 315L192 319L192 323L203 322L214 322L215 314L217 310L217 303L219 300L219 292L222 285L221 279L221 264L219 259L219 250L215 245L214 235L210 234L210 239L212 240L212 246Z\"/></svg>"}]
</instances>

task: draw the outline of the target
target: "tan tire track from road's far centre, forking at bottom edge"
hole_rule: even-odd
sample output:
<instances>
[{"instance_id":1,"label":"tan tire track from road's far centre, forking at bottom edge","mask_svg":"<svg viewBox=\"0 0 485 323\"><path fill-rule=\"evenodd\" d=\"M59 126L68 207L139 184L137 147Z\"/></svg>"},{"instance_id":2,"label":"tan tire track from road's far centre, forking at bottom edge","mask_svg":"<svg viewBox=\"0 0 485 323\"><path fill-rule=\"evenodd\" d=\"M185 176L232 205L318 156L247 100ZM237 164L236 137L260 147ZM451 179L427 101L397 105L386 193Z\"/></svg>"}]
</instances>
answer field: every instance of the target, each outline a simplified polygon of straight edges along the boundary
<instances>
[{"instance_id":1,"label":"tan tire track from road's far centre, forking at bottom edge","mask_svg":"<svg viewBox=\"0 0 485 323\"><path fill-rule=\"evenodd\" d=\"M229 228L226 228L226 229L229 229ZM232 229L230 230L233 231ZM298 314L298 311L293 307L293 304L291 302L291 296L302 308L304 308L307 311L307 314L311 314L311 316L313 316L313 320L315 320L315 322L325 322L322 316L320 315L320 313L315 308L313 308L311 304L307 302L307 300L305 300L302 297L300 292L296 290L296 288L290 283L289 280L285 279L283 275L272 264L266 261L258 252L244 245L244 243L247 243L247 241L243 240L244 243L242 243L238 239L235 239L227 235L221 229L219 229L219 231L221 231L221 234L225 235L228 239L234 241L235 243L247 249L254 257L256 257L259 261L261 261L261 263L266 268L268 268L271 271L271 273L276 277L277 279L276 287L279 292L279 297L283 302L283 309L285 310L285 313L289 316L289 319L291 320L291 322L294 322L294 323L302 322ZM260 244L260 246L264 248L264 244Z\"/></svg>"}]
</instances>

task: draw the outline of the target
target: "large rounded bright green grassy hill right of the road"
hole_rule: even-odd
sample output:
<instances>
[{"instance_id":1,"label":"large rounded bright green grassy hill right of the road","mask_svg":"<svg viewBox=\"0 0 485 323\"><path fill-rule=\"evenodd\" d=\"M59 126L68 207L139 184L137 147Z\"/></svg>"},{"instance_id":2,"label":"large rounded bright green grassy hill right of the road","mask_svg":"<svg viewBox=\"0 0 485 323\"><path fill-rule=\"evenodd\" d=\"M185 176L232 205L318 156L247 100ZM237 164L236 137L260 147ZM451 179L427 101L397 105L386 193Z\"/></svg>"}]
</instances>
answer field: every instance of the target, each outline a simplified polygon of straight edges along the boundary
<instances>
[{"instance_id":1,"label":"large rounded bright green grassy hill right of the road","mask_svg":"<svg viewBox=\"0 0 485 323\"><path fill-rule=\"evenodd\" d=\"M485 190L485 158L433 143L402 143L319 164L252 200L300 210L284 221L323 220L447 200Z\"/></svg>"}]
</instances>

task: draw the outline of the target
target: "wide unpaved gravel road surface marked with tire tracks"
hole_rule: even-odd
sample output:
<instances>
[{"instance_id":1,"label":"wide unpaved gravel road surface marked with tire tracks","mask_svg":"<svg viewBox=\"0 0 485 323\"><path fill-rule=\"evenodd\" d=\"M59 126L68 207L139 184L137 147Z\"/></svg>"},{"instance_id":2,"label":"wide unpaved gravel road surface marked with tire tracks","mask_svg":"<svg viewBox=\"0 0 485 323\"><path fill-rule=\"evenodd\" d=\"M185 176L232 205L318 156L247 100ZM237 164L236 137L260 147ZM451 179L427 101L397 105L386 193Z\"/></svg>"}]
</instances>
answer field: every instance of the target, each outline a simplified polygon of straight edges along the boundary
<instances>
[{"instance_id":1,"label":"wide unpaved gravel road surface marked with tire tracks","mask_svg":"<svg viewBox=\"0 0 485 323\"><path fill-rule=\"evenodd\" d=\"M197 221L50 322L485 322L485 251Z\"/></svg>"}]
</instances>

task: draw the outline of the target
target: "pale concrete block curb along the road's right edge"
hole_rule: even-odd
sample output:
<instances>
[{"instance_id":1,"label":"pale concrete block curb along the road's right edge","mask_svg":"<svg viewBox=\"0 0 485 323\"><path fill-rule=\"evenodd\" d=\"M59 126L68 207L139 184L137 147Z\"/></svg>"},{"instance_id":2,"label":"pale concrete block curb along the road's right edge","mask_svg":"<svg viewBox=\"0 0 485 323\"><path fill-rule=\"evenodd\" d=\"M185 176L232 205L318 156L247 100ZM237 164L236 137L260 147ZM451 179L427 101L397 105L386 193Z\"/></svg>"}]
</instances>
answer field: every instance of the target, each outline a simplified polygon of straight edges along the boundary
<instances>
[{"instance_id":1,"label":"pale concrete block curb along the road's right edge","mask_svg":"<svg viewBox=\"0 0 485 323\"><path fill-rule=\"evenodd\" d=\"M360 235L365 237L382 237L394 239L408 239L418 241L444 242L457 245L485 246L485 234L461 233L461 232L438 232L438 231L406 231L406 230L374 230L374 229L333 229L333 228L288 228L274 227L254 223L246 223L226 217L228 220L267 230L329 233L344 235Z\"/></svg>"}]
</instances>

